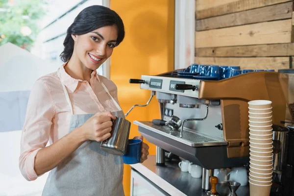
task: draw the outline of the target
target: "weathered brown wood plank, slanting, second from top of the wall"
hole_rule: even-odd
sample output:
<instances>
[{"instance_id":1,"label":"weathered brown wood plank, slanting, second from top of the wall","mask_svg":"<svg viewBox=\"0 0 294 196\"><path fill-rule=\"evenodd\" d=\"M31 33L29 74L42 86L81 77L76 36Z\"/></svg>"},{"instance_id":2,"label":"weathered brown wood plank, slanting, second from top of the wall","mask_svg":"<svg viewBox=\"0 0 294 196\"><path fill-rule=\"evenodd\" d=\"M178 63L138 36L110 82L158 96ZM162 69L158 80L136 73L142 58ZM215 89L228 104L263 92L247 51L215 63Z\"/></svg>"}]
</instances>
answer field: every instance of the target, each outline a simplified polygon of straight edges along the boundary
<instances>
[{"instance_id":1,"label":"weathered brown wood plank, slanting, second from top of the wall","mask_svg":"<svg viewBox=\"0 0 294 196\"><path fill-rule=\"evenodd\" d=\"M276 21L292 18L293 1L262 8L196 20L196 30L209 30L228 26L246 25L265 21Z\"/></svg>"}]
</instances>

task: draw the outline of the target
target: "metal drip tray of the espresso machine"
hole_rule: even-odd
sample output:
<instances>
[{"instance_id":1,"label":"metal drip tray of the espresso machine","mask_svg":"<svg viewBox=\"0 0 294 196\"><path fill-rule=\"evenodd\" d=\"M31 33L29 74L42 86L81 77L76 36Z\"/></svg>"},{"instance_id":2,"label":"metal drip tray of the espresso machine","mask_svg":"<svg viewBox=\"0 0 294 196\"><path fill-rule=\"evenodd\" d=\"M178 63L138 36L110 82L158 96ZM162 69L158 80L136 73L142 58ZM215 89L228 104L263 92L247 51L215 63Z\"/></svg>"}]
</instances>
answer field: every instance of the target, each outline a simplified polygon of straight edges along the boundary
<instances>
[{"instance_id":1,"label":"metal drip tray of the espresso machine","mask_svg":"<svg viewBox=\"0 0 294 196\"><path fill-rule=\"evenodd\" d=\"M183 130L183 137L180 138L180 130L172 130L168 126L158 126L148 121L134 121L134 124L191 147L227 145L227 142L224 140L209 138L208 136L200 135L185 128Z\"/></svg>"}]
</instances>

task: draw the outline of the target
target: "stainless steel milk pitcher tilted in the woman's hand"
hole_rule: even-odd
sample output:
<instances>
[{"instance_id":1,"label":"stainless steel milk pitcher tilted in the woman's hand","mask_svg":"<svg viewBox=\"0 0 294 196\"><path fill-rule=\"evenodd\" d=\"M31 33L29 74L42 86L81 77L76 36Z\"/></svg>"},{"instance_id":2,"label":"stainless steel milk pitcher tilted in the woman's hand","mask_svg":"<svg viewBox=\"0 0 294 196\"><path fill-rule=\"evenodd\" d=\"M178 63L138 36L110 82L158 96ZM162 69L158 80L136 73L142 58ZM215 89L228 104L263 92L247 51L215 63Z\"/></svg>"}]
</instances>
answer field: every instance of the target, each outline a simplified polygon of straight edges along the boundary
<instances>
[{"instance_id":1,"label":"stainless steel milk pitcher tilted in the woman's hand","mask_svg":"<svg viewBox=\"0 0 294 196\"><path fill-rule=\"evenodd\" d=\"M100 148L110 154L123 156L127 149L131 123L119 117L112 122L111 135L108 139L101 142Z\"/></svg>"}]
</instances>

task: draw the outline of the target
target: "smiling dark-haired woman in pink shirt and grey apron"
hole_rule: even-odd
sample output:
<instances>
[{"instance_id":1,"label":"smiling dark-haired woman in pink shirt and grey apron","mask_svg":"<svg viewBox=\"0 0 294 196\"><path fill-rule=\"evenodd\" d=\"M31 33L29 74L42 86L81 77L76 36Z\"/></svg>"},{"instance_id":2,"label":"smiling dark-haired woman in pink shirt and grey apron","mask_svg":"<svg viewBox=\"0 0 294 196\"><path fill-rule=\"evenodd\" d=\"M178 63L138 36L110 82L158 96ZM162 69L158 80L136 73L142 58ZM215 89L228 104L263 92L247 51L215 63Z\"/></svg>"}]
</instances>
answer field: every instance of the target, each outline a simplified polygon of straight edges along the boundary
<instances>
[{"instance_id":1,"label":"smiling dark-haired woman in pink shirt and grey apron","mask_svg":"<svg viewBox=\"0 0 294 196\"><path fill-rule=\"evenodd\" d=\"M50 171L43 196L124 195L122 157L99 147L110 136L111 119L124 115L116 85L96 72L123 38L123 21L116 12L87 7L67 30L61 53L65 64L35 82L22 133L20 170L27 180ZM143 143L141 162L148 148Z\"/></svg>"}]
</instances>

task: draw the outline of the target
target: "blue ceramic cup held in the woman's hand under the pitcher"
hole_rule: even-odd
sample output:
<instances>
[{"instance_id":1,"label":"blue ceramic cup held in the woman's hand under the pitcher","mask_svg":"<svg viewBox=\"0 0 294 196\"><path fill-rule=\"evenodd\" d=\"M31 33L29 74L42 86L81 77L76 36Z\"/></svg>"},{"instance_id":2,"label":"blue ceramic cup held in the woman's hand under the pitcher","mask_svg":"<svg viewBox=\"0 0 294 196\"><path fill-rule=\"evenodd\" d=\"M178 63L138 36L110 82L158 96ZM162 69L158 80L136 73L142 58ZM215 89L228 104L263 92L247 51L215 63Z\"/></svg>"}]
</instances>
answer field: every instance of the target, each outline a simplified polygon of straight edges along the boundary
<instances>
[{"instance_id":1,"label":"blue ceramic cup held in the woman's hand under the pitcher","mask_svg":"<svg viewBox=\"0 0 294 196\"><path fill-rule=\"evenodd\" d=\"M124 164L136 164L141 161L142 140L129 139L126 153L123 155Z\"/></svg>"}]
</instances>

